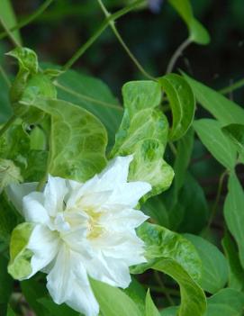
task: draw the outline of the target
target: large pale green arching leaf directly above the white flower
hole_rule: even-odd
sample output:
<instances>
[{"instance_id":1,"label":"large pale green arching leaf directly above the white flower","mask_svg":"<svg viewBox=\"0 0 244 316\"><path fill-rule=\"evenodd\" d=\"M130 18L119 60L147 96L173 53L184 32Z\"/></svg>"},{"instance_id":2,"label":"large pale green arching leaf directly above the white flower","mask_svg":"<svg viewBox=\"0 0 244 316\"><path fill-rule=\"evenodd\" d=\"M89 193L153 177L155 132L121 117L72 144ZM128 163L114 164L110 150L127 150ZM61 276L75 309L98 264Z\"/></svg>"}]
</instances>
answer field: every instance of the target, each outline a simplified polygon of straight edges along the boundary
<instances>
[{"instance_id":1,"label":"large pale green arching leaf directly above the white flower","mask_svg":"<svg viewBox=\"0 0 244 316\"><path fill-rule=\"evenodd\" d=\"M33 105L51 115L52 176L83 182L104 168L107 134L92 113L61 100L37 99Z\"/></svg>"}]
</instances>

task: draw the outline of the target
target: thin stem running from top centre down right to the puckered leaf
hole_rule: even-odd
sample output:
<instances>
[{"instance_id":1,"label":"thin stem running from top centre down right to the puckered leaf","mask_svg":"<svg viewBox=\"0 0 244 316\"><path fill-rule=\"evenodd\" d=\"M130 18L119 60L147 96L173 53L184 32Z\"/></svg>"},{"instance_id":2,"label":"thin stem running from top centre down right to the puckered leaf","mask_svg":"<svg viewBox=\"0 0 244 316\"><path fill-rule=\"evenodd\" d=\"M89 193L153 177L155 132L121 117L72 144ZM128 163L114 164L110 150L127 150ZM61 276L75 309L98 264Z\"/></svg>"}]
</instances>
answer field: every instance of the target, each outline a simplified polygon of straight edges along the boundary
<instances>
[{"instance_id":1,"label":"thin stem running from top centre down right to the puckered leaf","mask_svg":"<svg viewBox=\"0 0 244 316\"><path fill-rule=\"evenodd\" d=\"M98 4L101 6L102 10L104 11L104 15L106 18L109 18L111 14L107 11L103 0L97 0ZM156 80L154 77L150 76L149 73L141 66L139 60L132 54L131 50L127 46L127 44L123 41L122 36L118 29L115 26L114 21L111 21L109 23L114 35L116 36L117 40L121 43L122 48L126 51L132 62L136 65L136 67L140 70L141 74L143 74L145 77L148 77L150 80Z\"/></svg>"}]
</instances>

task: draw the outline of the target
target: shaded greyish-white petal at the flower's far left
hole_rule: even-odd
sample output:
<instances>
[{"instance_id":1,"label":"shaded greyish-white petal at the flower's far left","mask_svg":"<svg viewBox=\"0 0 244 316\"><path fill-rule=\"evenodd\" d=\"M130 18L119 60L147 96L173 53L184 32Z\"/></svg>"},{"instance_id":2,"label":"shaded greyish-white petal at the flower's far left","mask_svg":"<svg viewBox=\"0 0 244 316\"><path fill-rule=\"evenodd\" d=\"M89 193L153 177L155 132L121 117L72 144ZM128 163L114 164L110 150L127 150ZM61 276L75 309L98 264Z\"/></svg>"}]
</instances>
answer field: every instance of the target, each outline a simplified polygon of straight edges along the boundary
<instances>
[{"instance_id":1,"label":"shaded greyish-white petal at the flower's far left","mask_svg":"<svg viewBox=\"0 0 244 316\"><path fill-rule=\"evenodd\" d=\"M22 185L8 185L5 192L9 200L14 204L16 210L23 214L23 197L31 192L35 191L38 183L32 182Z\"/></svg>"}]
</instances>

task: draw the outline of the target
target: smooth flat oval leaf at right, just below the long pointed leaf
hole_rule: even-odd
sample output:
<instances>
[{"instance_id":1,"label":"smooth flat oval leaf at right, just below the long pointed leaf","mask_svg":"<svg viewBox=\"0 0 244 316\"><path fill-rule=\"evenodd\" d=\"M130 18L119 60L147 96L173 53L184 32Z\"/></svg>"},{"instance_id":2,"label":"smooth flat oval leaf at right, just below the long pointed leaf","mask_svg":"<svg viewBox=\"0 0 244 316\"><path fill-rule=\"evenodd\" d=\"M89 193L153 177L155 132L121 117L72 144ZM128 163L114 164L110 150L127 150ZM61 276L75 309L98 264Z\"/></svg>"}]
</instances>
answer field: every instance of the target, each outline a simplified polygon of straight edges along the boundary
<instances>
[{"instance_id":1,"label":"smooth flat oval leaf at right, just below the long pointed leaf","mask_svg":"<svg viewBox=\"0 0 244 316\"><path fill-rule=\"evenodd\" d=\"M194 121L194 130L197 132L203 145L221 165L232 170L236 165L236 148L227 136L221 131L221 123L211 119Z\"/></svg>"}]
</instances>

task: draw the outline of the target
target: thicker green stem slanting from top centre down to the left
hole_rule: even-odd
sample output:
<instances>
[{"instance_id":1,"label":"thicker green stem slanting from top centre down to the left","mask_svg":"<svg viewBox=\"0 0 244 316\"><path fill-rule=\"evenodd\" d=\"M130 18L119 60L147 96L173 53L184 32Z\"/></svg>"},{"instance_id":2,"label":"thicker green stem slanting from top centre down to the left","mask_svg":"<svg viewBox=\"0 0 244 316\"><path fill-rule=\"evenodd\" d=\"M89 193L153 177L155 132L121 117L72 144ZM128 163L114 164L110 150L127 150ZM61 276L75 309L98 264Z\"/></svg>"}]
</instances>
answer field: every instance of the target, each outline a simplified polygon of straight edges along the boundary
<instances>
[{"instance_id":1,"label":"thicker green stem slanting from top centre down to the left","mask_svg":"<svg viewBox=\"0 0 244 316\"><path fill-rule=\"evenodd\" d=\"M131 10L136 8L138 5L143 3L145 0L137 0L131 5L127 5L122 8L122 10L117 11L115 14L111 14L108 18L104 20L104 23L100 25L98 30L94 33L94 35L86 41L82 47L77 50L77 52L68 60L68 62L63 66L62 70L66 71L72 67L72 65L79 59L85 52L90 48L90 46L95 42L95 40L104 32L104 30L109 26L112 21L119 19L122 15L128 14Z\"/></svg>"}]
</instances>

